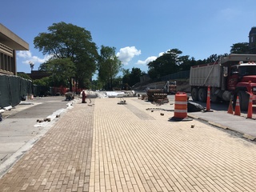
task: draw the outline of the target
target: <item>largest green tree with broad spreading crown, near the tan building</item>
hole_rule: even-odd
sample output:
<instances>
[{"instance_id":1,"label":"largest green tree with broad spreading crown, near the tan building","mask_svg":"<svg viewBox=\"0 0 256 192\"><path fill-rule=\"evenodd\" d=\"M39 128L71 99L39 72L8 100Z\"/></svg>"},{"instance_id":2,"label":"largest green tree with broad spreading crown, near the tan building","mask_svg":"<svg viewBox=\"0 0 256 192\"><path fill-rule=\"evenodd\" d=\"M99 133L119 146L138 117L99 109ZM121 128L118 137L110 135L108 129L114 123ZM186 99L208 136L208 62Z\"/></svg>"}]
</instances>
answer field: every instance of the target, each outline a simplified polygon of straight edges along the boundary
<instances>
[{"instance_id":1,"label":"largest green tree with broad spreading crown, near the tan building","mask_svg":"<svg viewBox=\"0 0 256 192\"><path fill-rule=\"evenodd\" d=\"M93 76L98 58L90 31L65 22L54 23L48 31L34 38L34 47L53 58L70 58L76 67L74 78L79 87L84 86L84 82Z\"/></svg>"}]
</instances>

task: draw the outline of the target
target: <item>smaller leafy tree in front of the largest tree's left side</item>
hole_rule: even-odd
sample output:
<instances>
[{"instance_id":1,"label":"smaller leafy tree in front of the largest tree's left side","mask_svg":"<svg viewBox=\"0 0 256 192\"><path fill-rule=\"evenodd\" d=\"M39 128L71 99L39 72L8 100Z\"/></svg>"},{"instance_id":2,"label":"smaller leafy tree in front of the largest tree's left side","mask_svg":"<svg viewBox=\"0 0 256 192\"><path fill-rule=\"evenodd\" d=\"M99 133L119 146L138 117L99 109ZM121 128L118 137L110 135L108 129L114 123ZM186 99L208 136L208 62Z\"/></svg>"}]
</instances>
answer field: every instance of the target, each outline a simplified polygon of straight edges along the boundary
<instances>
[{"instance_id":1,"label":"smaller leafy tree in front of the largest tree's left side","mask_svg":"<svg viewBox=\"0 0 256 192\"><path fill-rule=\"evenodd\" d=\"M51 71L52 86L67 86L67 82L70 84L75 74L74 62L70 58L51 58L40 65L39 70Z\"/></svg>"}]
</instances>

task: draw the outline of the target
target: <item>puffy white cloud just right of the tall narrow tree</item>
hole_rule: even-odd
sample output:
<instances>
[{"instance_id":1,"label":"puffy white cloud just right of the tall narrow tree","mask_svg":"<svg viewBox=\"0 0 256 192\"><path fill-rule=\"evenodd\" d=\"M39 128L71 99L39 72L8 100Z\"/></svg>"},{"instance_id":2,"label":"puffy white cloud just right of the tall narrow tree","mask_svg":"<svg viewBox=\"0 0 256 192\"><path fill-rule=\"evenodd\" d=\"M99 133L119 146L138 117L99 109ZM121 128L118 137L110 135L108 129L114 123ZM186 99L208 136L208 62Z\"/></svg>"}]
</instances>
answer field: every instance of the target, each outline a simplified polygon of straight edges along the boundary
<instances>
[{"instance_id":1,"label":"puffy white cloud just right of the tall narrow tree","mask_svg":"<svg viewBox=\"0 0 256 192\"><path fill-rule=\"evenodd\" d=\"M117 57L124 65L127 65L134 56L140 54L141 50L137 50L135 46L126 46L119 50Z\"/></svg>"}]
</instances>

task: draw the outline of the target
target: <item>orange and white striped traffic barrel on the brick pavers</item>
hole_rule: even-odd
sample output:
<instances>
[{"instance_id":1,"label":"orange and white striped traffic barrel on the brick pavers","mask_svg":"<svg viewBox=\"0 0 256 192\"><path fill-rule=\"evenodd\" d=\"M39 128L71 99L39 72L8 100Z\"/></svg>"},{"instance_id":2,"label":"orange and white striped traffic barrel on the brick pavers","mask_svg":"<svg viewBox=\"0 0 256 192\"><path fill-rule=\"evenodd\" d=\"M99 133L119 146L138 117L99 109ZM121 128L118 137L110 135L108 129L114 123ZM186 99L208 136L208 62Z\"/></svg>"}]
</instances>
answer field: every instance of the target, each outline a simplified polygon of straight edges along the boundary
<instances>
[{"instance_id":1,"label":"orange and white striped traffic barrel on the brick pavers","mask_svg":"<svg viewBox=\"0 0 256 192\"><path fill-rule=\"evenodd\" d=\"M192 120L187 118L187 95L184 92L178 92L175 94L174 102L174 117L172 120Z\"/></svg>"}]
</instances>

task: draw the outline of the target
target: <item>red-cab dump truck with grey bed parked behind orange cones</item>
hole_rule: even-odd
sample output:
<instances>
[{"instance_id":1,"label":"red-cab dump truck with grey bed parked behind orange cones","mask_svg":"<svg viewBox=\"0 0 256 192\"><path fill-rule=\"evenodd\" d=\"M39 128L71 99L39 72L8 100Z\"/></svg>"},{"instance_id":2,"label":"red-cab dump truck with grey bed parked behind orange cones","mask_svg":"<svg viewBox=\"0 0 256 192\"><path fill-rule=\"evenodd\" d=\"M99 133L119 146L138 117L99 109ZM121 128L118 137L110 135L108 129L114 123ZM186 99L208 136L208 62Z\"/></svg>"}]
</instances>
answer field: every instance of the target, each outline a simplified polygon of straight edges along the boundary
<instances>
[{"instance_id":1,"label":"red-cab dump truck with grey bed parked behind orange cones","mask_svg":"<svg viewBox=\"0 0 256 192\"><path fill-rule=\"evenodd\" d=\"M210 101L236 103L248 109L250 94L256 100L256 54L228 54L216 62L191 66L190 87L194 101L206 102L210 86Z\"/></svg>"}]
</instances>

